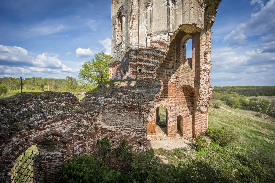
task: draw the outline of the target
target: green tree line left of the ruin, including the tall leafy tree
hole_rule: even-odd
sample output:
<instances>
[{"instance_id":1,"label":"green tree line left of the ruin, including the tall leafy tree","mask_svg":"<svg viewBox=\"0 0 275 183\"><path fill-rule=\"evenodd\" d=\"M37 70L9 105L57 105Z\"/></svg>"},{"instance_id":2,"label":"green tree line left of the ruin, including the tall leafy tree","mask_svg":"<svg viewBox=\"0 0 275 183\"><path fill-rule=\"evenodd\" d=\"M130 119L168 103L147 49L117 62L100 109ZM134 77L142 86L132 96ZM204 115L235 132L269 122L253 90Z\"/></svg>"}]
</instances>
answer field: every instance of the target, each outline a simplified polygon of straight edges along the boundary
<instances>
[{"instance_id":1,"label":"green tree line left of the ruin, including the tall leafy tree","mask_svg":"<svg viewBox=\"0 0 275 183\"><path fill-rule=\"evenodd\" d=\"M71 92L79 95L109 80L108 63L111 56L104 52L95 54L95 59L84 62L79 71L79 80L71 76L66 79L32 77L23 79L23 92ZM9 97L20 93L20 78L0 78L0 97Z\"/></svg>"}]
</instances>

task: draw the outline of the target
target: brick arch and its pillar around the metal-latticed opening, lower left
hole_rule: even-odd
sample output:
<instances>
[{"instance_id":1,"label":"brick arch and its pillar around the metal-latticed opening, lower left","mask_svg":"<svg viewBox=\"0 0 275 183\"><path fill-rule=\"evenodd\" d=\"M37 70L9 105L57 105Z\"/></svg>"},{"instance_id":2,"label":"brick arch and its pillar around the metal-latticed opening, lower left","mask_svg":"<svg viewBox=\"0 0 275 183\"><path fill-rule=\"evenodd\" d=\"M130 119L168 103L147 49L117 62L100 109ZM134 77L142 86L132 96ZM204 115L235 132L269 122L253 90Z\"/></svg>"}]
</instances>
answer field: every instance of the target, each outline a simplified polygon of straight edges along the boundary
<instances>
[{"instance_id":1,"label":"brick arch and its pillar around the metal-latticed opening, lower left","mask_svg":"<svg viewBox=\"0 0 275 183\"><path fill-rule=\"evenodd\" d=\"M32 131L30 129L30 131ZM38 133L39 130L35 130L33 133ZM73 157L73 143L72 139L73 133L63 135L62 133L59 133L57 131L50 131L47 130L46 132L42 132L40 135L34 135L34 136L21 136L21 138L18 138L16 141L10 144L5 144L5 150L6 152L1 154L1 168L4 165L4 170L2 172L2 180L6 180L6 182L10 182L10 176L8 175L10 170L13 168L13 164L15 163L15 160L29 147L32 145L37 144L38 151L40 153L40 156L42 156L42 165L44 166L41 171L41 174L43 175L41 177L41 182L47 182L50 180L50 182L59 182L56 181L56 177L58 177L58 173L60 173L61 165L64 161L68 161ZM63 158L55 158L55 160L59 159L56 163L54 162L54 166L48 164L49 159L53 159L57 156L57 151L46 151L45 148L45 142L46 141L52 141L57 142L59 145L63 144L65 148L63 148L61 151L59 151L59 155L63 155ZM43 144L44 143L44 144ZM44 149L44 150L42 150ZM56 154L57 153L57 154ZM45 163L43 163L45 162ZM51 171L48 171L48 165Z\"/></svg>"}]
</instances>

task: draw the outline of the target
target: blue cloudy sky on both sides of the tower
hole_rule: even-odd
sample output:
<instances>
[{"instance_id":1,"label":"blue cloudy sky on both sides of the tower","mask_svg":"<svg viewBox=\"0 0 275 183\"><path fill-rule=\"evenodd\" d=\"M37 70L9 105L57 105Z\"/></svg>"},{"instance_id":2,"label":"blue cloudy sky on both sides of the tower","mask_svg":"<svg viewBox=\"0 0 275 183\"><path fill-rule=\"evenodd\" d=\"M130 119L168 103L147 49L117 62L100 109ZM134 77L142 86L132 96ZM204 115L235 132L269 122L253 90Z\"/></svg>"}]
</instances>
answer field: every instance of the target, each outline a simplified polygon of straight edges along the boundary
<instances>
[{"instance_id":1,"label":"blue cloudy sky on both sides of the tower","mask_svg":"<svg viewBox=\"0 0 275 183\"><path fill-rule=\"evenodd\" d=\"M1 0L0 77L77 78L110 53L110 0ZM275 85L274 0L223 0L212 28L212 86Z\"/></svg>"}]
</instances>

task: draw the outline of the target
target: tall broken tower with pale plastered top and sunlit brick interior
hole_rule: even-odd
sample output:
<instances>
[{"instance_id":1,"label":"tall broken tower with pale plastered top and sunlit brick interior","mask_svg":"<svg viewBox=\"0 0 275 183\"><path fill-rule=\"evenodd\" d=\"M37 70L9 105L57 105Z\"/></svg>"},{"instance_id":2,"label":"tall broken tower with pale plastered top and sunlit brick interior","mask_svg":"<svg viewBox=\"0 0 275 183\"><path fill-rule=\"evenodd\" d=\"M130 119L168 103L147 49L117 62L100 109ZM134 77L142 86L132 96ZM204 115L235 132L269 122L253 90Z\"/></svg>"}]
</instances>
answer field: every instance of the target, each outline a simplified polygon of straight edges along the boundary
<instances>
[{"instance_id":1,"label":"tall broken tower with pale plastered top and sunlit brick interior","mask_svg":"<svg viewBox=\"0 0 275 183\"><path fill-rule=\"evenodd\" d=\"M207 129L211 28L220 2L112 0L110 80L152 79L163 85L147 118L149 135L156 133L160 106L166 108L168 136L178 129L196 137Z\"/></svg>"}]
</instances>

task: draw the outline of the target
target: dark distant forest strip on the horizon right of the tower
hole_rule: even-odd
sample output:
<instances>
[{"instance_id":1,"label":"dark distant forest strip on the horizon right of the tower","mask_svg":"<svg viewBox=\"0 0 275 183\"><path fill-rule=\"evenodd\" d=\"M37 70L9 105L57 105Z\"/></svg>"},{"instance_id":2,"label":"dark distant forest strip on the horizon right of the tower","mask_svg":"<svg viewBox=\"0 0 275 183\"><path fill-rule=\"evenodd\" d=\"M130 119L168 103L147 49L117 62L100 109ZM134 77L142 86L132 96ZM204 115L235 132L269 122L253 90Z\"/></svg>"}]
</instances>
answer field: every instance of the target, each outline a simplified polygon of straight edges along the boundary
<instances>
[{"instance_id":1,"label":"dark distant forest strip on the horizon right of the tower","mask_svg":"<svg viewBox=\"0 0 275 183\"><path fill-rule=\"evenodd\" d=\"M244 95L247 97L275 96L275 86L214 86L212 91Z\"/></svg>"}]
</instances>

